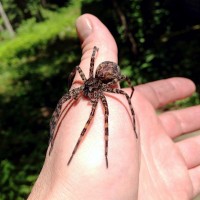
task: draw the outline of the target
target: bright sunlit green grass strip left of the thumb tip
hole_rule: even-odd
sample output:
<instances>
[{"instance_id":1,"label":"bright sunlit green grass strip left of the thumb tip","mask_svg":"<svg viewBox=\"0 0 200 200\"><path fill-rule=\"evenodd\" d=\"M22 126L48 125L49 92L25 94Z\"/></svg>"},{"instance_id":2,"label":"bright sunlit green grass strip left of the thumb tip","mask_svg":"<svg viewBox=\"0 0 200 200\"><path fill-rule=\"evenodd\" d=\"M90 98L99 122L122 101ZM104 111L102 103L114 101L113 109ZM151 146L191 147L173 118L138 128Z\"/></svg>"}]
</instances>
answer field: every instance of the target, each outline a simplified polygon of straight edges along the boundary
<instances>
[{"instance_id":1,"label":"bright sunlit green grass strip left of the thumb tip","mask_svg":"<svg viewBox=\"0 0 200 200\"><path fill-rule=\"evenodd\" d=\"M70 28L70 25L75 20L74 10L68 13L72 17L65 18L66 12L68 11L61 10L59 14L55 13L51 19L43 23L36 24L34 18L26 21L17 30L19 35L16 38L6 43L4 42L0 46L0 59L4 61L13 57L20 57L25 54L24 52L28 53L28 56L34 55L38 50L42 50L49 40L52 40L58 34L63 34L64 32L64 34L74 35L74 28ZM69 25L68 28L66 28L67 24ZM39 47L36 47L37 45ZM27 55L25 54L25 56Z\"/></svg>"}]
</instances>

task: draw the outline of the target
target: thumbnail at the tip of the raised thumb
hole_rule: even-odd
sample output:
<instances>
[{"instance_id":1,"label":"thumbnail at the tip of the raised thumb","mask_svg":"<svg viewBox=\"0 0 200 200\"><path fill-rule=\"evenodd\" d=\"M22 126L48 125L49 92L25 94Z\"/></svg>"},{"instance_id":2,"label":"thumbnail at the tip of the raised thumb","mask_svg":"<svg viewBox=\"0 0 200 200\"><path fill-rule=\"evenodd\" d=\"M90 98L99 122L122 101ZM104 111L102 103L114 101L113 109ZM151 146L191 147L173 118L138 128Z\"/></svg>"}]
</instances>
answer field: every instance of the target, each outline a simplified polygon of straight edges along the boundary
<instances>
[{"instance_id":1,"label":"thumbnail at the tip of the raised thumb","mask_svg":"<svg viewBox=\"0 0 200 200\"><path fill-rule=\"evenodd\" d=\"M76 29L81 40L85 40L91 34L92 25L87 15L82 15L77 19Z\"/></svg>"}]
</instances>

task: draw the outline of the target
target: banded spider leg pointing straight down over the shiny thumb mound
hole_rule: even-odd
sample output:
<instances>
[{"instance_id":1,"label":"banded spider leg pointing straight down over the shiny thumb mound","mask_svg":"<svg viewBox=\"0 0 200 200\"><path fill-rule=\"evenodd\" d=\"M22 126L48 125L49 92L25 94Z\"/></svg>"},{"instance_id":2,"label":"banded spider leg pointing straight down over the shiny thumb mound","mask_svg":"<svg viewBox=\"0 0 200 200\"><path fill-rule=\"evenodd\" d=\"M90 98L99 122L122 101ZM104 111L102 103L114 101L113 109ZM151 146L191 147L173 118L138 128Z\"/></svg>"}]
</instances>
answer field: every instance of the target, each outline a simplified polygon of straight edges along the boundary
<instances>
[{"instance_id":1,"label":"banded spider leg pointing straight down over the shiny thumb mound","mask_svg":"<svg viewBox=\"0 0 200 200\"><path fill-rule=\"evenodd\" d=\"M109 137L109 130L108 130L108 116L109 116L109 110L108 110L108 103L106 100L106 97L101 94L100 96L101 101L104 106L105 110L105 159L106 159L106 167L108 168L108 137Z\"/></svg>"}]
</instances>

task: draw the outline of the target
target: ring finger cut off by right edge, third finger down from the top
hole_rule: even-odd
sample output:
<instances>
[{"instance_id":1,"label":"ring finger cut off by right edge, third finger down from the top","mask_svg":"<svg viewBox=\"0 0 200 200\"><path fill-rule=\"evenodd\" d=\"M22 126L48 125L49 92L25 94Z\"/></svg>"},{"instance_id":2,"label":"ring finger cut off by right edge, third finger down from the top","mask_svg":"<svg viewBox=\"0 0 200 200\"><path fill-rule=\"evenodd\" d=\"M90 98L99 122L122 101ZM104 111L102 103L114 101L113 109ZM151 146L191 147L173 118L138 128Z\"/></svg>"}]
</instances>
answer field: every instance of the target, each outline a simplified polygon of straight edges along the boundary
<instances>
[{"instance_id":1,"label":"ring finger cut off by right edge, third finger down from the top","mask_svg":"<svg viewBox=\"0 0 200 200\"><path fill-rule=\"evenodd\" d=\"M200 136L188 138L176 143L188 169L200 165Z\"/></svg>"}]
</instances>

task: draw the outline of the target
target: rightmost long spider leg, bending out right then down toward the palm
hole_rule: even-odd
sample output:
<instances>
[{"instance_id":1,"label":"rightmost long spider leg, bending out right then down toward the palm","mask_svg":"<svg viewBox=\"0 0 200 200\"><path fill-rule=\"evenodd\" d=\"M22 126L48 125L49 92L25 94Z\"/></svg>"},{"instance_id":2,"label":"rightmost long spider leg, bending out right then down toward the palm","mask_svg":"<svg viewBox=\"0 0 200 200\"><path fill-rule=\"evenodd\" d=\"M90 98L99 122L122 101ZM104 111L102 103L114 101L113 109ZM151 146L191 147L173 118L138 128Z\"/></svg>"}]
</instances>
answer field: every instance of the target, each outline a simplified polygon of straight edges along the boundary
<instances>
[{"instance_id":1,"label":"rightmost long spider leg, bending out right then down toward the palm","mask_svg":"<svg viewBox=\"0 0 200 200\"><path fill-rule=\"evenodd\" d=\"M124 92L123 90L117 89L117 88L103 88L103 90L105 92L123 94L126 97L128 104L129 104L129 107L130 107L130 110L131 110L132 117L133 117L133 130L135 132L136 139L138 139L138 134L136 132L136 124L135 124L135 112L134 112L134 109L133 109L133 106L132 106L132 103L131 103L131 98L128 96L128 94L126 92Z\"/></svg>"}]
</instances>

